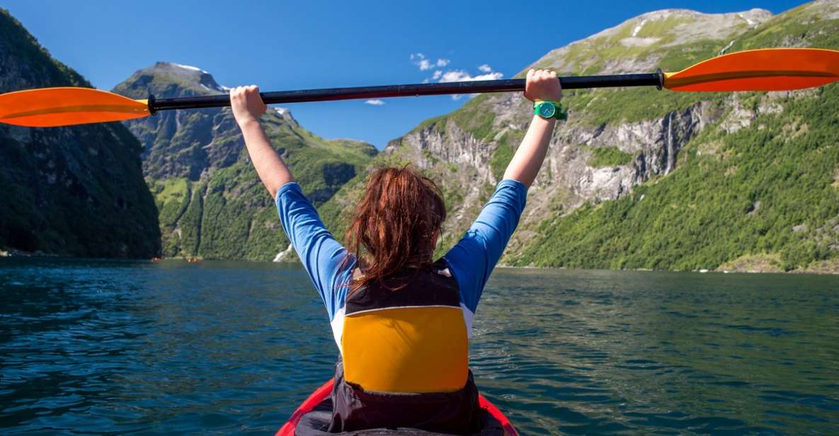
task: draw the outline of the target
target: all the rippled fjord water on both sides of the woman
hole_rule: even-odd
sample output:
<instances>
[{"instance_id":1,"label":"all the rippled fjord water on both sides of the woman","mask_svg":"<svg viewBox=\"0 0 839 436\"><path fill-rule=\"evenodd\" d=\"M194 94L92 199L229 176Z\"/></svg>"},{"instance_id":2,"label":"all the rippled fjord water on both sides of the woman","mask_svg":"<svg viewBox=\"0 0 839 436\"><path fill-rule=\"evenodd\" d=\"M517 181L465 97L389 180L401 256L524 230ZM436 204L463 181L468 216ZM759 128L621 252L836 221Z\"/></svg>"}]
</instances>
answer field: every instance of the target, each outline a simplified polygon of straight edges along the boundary
<instances>
[{"instance_id":1,"label":"all the rippled fjord water on both sides of the woman","mask_svg":"<svg viewBox=\"0 0 839 436\"><path fill-rule=\"evenodd\" d=\"M3 434L271 434L336 352L300 267L0 259ZM839 278L498 269L472 368L524 434L835 434Z\"/></svg>"}]
</instances>

